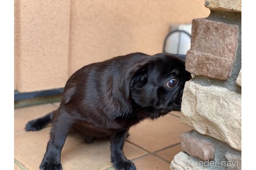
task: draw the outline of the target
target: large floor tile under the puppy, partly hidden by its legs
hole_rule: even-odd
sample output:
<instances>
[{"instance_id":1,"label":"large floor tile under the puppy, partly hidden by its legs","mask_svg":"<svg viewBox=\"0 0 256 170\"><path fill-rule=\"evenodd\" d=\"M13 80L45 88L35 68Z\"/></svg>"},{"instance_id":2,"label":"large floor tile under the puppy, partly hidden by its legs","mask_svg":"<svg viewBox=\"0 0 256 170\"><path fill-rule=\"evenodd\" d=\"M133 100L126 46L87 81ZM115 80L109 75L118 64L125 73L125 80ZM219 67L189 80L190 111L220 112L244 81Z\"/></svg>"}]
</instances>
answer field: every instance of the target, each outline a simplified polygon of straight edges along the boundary
<instances>
[{"instance_id":1,"label":"large floor tile under the puppy, partly hidden by its legs","mask_svg":"<svg viewBox=\"0 0 256 170\"><path fill-rule=\"evenodd\" d=\"M38 169L46 150L50 127L38 132L25 132L15 135L15 159L28 169ZM127 159L134 159L147 154L145 151L125 143L124 153ZM110 140L95 139L86 144L83 136L70 133L62 149L63 169L98 170L111 167Z\"/></svg>"}]
</instances>

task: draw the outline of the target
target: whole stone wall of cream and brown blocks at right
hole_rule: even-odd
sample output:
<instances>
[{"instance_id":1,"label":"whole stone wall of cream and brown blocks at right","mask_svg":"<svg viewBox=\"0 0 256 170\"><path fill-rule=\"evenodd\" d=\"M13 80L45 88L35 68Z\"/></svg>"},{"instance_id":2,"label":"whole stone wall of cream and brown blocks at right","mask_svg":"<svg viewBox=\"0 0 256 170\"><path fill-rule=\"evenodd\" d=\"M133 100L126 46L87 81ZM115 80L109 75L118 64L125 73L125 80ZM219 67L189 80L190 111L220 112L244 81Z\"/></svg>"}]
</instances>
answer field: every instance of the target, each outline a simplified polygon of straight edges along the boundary
<instances>
[{"instance_id":1,"label":"whole stone wall of cream and brown blocks at right","mask_svg":"<svg viewBox=\"0 0 256 170\"><path fill-rule=\"evenodd\" d=\"M192 21L181 121L183 152L171 169L241 169L241 1L207 0Z\"/></svg>"}]
</instances>

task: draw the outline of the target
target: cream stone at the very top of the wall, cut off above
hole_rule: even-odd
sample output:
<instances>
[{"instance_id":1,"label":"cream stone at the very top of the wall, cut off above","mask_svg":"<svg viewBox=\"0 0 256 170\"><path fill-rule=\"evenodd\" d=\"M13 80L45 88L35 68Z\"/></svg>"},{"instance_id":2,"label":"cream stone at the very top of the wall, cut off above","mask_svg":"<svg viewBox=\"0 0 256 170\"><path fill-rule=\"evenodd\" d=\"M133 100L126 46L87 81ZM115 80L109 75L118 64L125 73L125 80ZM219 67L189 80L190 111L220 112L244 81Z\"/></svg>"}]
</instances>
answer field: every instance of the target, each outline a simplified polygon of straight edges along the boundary
<instances>
[{"instance_id":1,"label":"cream stone at the very top of the wall, cut off above","mask_svg":"<svg viewBox=\"0 0 256 170\"><path fill-rule=\"evenodd\" d=\"M204 6L212 10L241 12L241 0L206 0Z\"/></svg>"}]
</instances>

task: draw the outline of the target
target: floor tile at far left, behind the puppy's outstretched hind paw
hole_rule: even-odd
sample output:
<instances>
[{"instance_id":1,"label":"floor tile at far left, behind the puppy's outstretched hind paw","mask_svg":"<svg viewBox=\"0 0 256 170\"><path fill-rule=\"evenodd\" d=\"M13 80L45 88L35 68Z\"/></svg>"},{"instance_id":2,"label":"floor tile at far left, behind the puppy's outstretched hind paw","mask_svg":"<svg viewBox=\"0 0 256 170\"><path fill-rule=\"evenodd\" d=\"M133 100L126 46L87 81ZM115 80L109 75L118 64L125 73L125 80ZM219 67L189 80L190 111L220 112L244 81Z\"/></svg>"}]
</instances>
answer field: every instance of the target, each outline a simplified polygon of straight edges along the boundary
<instances>
[{"instance_id":1,"label":"floor tile at far left, behind the puppy's outstretched hind paw","mask_svg":"<svg viewBox=\"0 0 256 170\"><path fill-rule=\"evenodd\" d=\"M36 105L14 110L14 133L25 132L25 124L33 119L42 117L50 111L56 110L53 104Z\"/></svg>"}]
</instances>

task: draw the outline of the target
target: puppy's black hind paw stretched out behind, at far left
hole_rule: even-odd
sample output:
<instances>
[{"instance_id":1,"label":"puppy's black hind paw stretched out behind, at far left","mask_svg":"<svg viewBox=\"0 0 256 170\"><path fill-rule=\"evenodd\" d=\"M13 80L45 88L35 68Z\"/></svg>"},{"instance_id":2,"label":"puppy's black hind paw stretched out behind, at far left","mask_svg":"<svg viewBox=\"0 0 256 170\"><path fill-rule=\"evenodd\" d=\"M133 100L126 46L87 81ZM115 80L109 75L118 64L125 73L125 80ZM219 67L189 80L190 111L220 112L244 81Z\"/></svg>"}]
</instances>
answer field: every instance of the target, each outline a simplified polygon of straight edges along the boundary
<instances>
[{"instance_id":1,"label":"puppy's black hind paw stretched out behind, at far left","mask_svg":"<svg viewBox=\"0 0 256 170\"><path fill-rule=\"evenodd\" d=\"M26 131L39 131L39 130L43 129L47 124L52 122L53 117L55 115L55 111L49 112L49 114L47 114L41 118L29 121L25 125L25 130Z\"/></svg>"}]
</instances>

